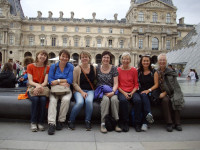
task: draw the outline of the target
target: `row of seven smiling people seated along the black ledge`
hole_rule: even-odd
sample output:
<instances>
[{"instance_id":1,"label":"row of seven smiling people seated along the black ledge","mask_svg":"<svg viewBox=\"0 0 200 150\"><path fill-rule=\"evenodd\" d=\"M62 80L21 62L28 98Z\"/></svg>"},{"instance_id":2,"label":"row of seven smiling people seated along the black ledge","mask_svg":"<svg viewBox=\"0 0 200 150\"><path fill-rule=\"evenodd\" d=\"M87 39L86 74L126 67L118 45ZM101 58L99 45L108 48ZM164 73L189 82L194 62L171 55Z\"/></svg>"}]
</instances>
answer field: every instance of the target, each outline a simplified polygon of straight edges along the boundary
<instances>
[{"instance_id":1,"label":"row of seven smiling people seated along the black ledge","mask_svg":"<svg viewBox=\"0 0 200 150\"><path fill-rule=\"evenodd\" d=\"M180 110L183 108L184 99L176 73L166 67L166 55L158 56L157 71L151 67L150 56L141 57L137 70L131 67L131 55L128 52L122 54L121 66L118 68L110 64L111 55L109 51L104 51L101 64L95 67L90 63L90 53L83 51L80 54L81 64L74 68L69 63L69 52L62 50L59 53L59 62L49 67L47 52L39 51L35 63L27 67L29 85L34 87L32 93L28 92L32 101L31 130L33 132L45 130L43 123L47 96L42 96L40 93L45 91L49 83L52 88L61 86L68 89L68 92L63 94L50 92L49 135L63 129L72 94L75 105L67 121L71 130L75 129L76 117L83 106L85 106L85 128L91 130L93 101L98 100L101 108L100 131L102 133L108 132L105 121L108 114L116 121L114 128L116 132L128 132L130 105L133 105L136 132L147 131L148 125L154 122L150 97L156 89L160 89L158 107L162 107L164 112L166 130L181 131ZM70 85L73 91L70 90ZM61 100L61 104L57 113L58 100Z\"/></svg>"}]
</instances>

